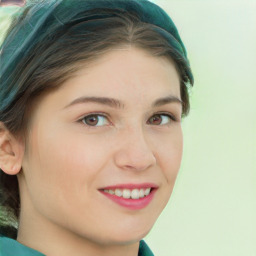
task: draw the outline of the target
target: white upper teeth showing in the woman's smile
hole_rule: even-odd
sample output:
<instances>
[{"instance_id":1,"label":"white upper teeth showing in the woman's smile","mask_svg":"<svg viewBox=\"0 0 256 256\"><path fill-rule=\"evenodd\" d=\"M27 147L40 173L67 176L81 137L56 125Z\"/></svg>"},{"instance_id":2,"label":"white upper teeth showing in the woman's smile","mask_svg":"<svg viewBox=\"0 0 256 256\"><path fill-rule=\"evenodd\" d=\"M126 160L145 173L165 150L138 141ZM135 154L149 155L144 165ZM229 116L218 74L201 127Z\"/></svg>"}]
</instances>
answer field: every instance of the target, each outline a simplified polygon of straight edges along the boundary
<instances>
[{"instance_id":1,"label":"white upper teeth showing in the woman's smile","mask_svg":"<svg viewBox=\"0 0 256 256\"><path fill-rule=\"evenodd\" d=\"M151 191L151 188L141 188L141 189L138 189L138 188L135 188L135 189L115 189L115 190L112 190L112 189L104 189L104 192L106 193L109 193L109 194L112 194L112 195L116 195L116 196L119 196L119 197L123 197L123 198L132 198L132 199L139 199L139 198L143 198L144 196L147 196L149 195Z\"/></svg>"}]
</instances>

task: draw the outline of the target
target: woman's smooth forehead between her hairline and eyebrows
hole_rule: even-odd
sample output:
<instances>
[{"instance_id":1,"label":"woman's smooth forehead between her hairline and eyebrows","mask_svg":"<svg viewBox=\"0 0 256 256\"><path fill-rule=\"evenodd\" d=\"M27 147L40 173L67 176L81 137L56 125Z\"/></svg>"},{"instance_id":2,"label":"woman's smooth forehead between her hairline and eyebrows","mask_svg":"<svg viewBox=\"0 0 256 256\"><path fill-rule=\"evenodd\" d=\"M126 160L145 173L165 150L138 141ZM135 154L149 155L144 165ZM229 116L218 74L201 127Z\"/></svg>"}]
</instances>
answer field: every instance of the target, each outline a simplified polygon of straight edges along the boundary
<instances>
[{"instance_id":1,"label":"woman's smooth forehead between her hairline and eyebrows","mask_svg":"<svg viewBox=\"0 0 256 256\"><path fill-rule=\"evenodd\" d=\"M144 111L167 96L180 99L179 75L169 59L136 48L115 49L42 97L34 113L39 117L42 112L61 111L81 97L117 99L127 110Z\"/></svg>"}]
</instances>

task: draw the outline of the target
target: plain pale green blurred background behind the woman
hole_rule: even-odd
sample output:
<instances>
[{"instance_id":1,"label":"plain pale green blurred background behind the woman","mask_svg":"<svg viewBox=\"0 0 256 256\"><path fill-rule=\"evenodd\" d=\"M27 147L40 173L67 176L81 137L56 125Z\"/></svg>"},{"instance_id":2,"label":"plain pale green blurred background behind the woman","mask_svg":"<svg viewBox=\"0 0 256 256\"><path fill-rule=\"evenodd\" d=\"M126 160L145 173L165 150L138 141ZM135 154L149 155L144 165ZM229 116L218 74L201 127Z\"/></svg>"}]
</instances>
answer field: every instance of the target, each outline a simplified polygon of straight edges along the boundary
<instances>
[{"instance_id":1,"label":"plain pale green blurred background behind the woman","mask_svg":"<svg viewBox=\"0 0 256 256\"><path fill-rule=\"evenodd\" d=\"M154 2L180 31L195 86L182 167L145 240L156 256L256 256L256 1ZM13 11L1 8L1 34Z\"/></svg>"}]
</instances>

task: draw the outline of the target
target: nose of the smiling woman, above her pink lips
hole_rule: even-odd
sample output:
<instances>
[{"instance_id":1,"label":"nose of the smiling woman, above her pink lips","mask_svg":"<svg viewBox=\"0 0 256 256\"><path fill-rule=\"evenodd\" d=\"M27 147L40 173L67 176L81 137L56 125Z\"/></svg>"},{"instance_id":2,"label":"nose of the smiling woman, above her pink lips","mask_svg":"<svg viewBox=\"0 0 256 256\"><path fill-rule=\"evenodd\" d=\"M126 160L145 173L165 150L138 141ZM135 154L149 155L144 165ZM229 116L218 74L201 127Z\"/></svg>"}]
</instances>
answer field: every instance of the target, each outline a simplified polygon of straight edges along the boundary
<instances>
[{"instance_id":1,"label":"nose of the smiling woman, above her pink lips","mask_svg":"<svg viewBox=\"0 0 256 256\"><path fill-rule=\"evenodd\" d=\"M156 157L143 131L134 129L122 134L114 161L121 169L143 171L156 164Z\"/></svg>"}]
</instances>

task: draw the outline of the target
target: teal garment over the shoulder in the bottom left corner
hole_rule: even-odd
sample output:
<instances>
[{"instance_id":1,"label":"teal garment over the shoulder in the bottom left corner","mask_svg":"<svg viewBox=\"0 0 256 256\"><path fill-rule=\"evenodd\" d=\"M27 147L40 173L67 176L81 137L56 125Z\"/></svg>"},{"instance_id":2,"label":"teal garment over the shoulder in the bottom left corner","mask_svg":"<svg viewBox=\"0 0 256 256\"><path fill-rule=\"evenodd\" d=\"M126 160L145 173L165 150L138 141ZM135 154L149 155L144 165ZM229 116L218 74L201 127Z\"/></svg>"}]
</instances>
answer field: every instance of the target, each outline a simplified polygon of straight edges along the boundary
<instances>
[{"instance_id":1,"label":"teal garment over the shoulder in the bottom left corner","mask_svg":"<svg viewBox=\"0 0 256 256\"><path fill-rule=\"evenodd\" d=\"M43 256L42 253L37 252L14 239L0 235L0 256Z\"/></svg>"}]
</instances>

